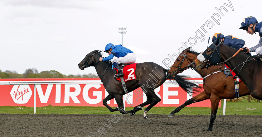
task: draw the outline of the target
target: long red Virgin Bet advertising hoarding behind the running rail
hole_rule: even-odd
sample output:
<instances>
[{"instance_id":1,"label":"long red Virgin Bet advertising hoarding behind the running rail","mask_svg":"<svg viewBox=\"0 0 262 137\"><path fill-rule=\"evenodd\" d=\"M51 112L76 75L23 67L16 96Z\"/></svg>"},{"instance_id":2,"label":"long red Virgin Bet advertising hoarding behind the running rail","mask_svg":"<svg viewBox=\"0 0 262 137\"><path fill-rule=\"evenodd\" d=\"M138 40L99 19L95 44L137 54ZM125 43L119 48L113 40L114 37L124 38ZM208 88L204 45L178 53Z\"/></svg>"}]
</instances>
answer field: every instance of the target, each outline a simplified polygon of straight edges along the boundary
<instances>
[{"instance_id":1,"label":"long red Virgin Bet advertising hoarding behind the running rail","mask_svg":"<svg viewBox=\"0 0 262 137\"><path fill-rule=\"evenodd\" d=\"M202 81L202 78L190 78L192 81ZM91 84L38 84L36 85L36 106L104 106L103 99L108 95L99 78L36 78L36 79L0 79L3 81L45 81L45 82L82 82ZM95 84L94 84L95 83ZM200 85L202 86L202 85ZM0 106L33 106L34 85L0 85ZM176 84L163 84L155 89L161 98L156 106L177 107L192 98ZM193 97L196 93L193 93ZM146 101L142 89L129 92L125 95L126 107L138 106ZM108 101L109 106L117 106L114 99ZM190 107L211 107L210 100L196 102ZM219 104L219 107L221 104Z\"/></svg>"}]
</instances>

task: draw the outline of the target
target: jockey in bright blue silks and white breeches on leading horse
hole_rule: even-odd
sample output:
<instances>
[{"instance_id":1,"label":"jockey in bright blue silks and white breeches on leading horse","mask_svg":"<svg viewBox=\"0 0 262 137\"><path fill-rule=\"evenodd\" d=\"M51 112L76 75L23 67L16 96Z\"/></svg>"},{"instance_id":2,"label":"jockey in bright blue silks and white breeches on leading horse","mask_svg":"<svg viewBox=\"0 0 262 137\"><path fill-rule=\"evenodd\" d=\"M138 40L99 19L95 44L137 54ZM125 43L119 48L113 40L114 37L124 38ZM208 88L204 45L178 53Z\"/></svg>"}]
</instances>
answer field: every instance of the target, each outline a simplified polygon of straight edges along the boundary
<instances>
[{"instance_id":1,"label":"jockey in bright blue silks and white breeches on leading horse","mask_svg":"<svg viewBox=\"0 0 262 137\"><path fill-rule=\"evenodd\" d=\"M116 78L124 76L124 73L122 72L118 64L133 64L136 61L136 57L133 51L123 47L121 44L113 45L112 43L109 43L105 46L104 52L107 52L109 56L107 56L106 58L100 57L99 61L108 61L110 59L113 59L114 56L117 57L117 59L114 59L112 61L114 67L118 69L118 73L115 74Z\"/></svg>"}]
</instances>

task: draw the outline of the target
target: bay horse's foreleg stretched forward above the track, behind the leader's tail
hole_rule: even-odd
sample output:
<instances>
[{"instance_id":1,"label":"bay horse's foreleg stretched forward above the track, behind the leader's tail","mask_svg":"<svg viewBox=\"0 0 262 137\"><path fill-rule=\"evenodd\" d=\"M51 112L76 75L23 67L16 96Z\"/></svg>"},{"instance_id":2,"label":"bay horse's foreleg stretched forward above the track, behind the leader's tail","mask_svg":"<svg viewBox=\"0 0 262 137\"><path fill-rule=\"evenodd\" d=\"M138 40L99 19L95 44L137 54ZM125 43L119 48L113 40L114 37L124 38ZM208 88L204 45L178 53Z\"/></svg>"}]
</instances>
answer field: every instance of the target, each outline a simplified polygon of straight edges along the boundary
<instances>
[{"instance_id":1,"label":"bay horse's foreleg stretched forward above the track, behind the leader's tail","mask_svg":"<svg viewBox=\"0 0 262 137\"><path fill-rule=\"evenodd\" d=\"M200 94L196 95L196 97L193 97L193 98L187 100L181 106L178 106L174 111L172 111L168 115L168 117L174 116L175 113L179 112L180 110L182 110L187 105L190 105L190 104L195 103L195 102L201 102L201 101L206 100L206 99L210 99L210 94L208 94L206 91L202 91Z\"/></svg>"}]
</instances>

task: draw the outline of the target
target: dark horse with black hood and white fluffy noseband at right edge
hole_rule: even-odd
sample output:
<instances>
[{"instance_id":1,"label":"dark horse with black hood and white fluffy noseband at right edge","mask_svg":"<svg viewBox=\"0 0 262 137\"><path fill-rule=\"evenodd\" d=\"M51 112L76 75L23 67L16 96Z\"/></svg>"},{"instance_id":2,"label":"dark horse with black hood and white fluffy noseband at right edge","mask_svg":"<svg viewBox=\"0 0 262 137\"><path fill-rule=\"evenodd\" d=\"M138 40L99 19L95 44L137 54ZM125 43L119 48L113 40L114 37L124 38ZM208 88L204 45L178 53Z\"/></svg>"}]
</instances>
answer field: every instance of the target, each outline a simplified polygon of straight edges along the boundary
<instances>
[{"instance_id":1,"label":"dark horse with black hood and white fluffy noseband at right edge","mask_svg":"<svg viewBox=\"0 0 262 137\"><path fill-rule=\"evenodd\" d=\"M221 44L219 39L221 38L218 37L214 44L211 44L203 52L204 60L201 59L200 61L197 59L193 68L200 71L203 66L215 65L221 60L238 74L238 77L250 90L252 97L262 100L262 61L255 61L250 54L238 52L229 46Z\"/></svg>"}]
</instances>

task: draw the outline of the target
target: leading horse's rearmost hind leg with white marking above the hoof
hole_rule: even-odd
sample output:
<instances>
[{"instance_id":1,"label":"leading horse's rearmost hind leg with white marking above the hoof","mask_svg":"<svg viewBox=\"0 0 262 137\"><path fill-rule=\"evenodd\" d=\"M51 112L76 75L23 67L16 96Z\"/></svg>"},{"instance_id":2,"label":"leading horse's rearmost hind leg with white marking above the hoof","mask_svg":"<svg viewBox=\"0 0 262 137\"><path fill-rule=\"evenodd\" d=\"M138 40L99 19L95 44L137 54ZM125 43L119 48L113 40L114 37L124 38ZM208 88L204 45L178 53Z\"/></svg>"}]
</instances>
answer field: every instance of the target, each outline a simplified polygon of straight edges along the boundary
<instances>
[{"instance_id":1,"label":"leading horse's rearmost hind leg with white marking above the hoof","mask_svg":"<svg viewBox=\"0 0 262 137\"><path fill-rule=\"evenodd\" d=\"M161 101L161 98L159 98L156 93L154 91L152 91L152 89L144 89L144 92L146 92L148 94L148 97L150 97L152 99L152 103L146 108L144 109L144 118L145 120L148 119L148 111L155 106L158 102Z\"/></svg>"}]
</instances>

